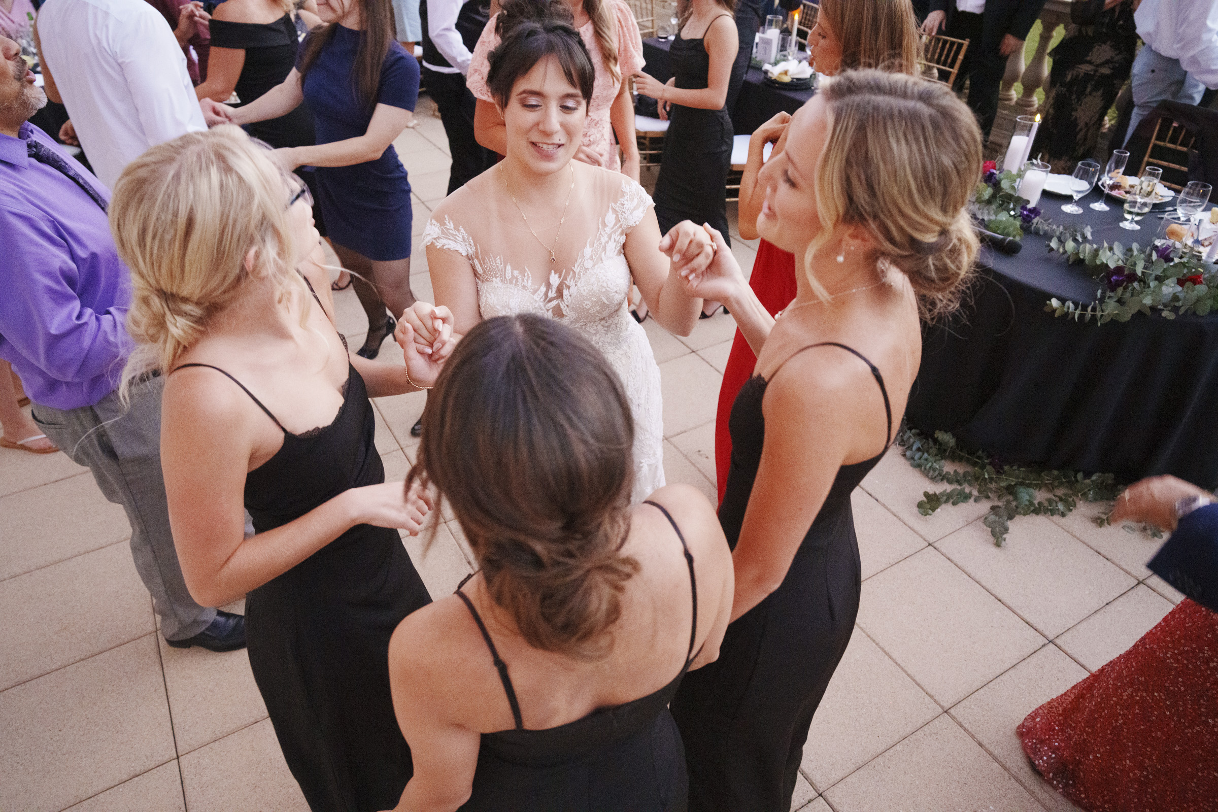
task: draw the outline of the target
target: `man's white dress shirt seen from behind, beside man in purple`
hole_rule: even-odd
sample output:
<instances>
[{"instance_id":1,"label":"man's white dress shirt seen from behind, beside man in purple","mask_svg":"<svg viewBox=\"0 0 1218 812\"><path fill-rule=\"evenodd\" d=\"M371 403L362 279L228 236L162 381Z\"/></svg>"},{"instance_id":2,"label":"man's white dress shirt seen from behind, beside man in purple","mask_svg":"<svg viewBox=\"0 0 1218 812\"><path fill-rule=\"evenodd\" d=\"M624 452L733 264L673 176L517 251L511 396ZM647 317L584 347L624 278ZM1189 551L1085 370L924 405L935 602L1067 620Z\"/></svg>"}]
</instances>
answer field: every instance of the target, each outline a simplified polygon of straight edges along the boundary
<instances>
[{"instance_id":1,"label":"man's white dress shirt seen from behind, beside man in purple","mask_svg":"<svg viewBox=\"0 0 1218 812\"><path fill-rule=\"evenodd\" d=\"M150 146L207 129L186 57L144 0L48 0L38 37L49 84L106 186Z\"/></svg>"}]
</instances>

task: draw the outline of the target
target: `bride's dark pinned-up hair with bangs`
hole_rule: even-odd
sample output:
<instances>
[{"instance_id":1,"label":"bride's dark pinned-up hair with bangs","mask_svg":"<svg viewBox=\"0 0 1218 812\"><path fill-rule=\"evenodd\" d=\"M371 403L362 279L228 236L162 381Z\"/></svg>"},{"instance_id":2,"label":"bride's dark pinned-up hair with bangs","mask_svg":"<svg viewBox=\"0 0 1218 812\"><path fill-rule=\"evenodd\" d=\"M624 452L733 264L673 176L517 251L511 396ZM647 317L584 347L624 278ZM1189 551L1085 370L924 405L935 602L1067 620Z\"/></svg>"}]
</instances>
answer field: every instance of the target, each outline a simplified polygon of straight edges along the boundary
<instances>
[{"instance_id":1,"label":"bride's dark pinned-up hair with bangs","mask_svg":"<svg viewBox=\"0 0 1218 812\"><path fill-rule=\"evenodd\" d=\"M486 84L501 107L508 106L516 79L547 56L558 60L563 75L580 89L583 103L592 101L596 69L563 0L504 0L495 33L499 44L488 57Z\"/></svg>"}]
</instances>

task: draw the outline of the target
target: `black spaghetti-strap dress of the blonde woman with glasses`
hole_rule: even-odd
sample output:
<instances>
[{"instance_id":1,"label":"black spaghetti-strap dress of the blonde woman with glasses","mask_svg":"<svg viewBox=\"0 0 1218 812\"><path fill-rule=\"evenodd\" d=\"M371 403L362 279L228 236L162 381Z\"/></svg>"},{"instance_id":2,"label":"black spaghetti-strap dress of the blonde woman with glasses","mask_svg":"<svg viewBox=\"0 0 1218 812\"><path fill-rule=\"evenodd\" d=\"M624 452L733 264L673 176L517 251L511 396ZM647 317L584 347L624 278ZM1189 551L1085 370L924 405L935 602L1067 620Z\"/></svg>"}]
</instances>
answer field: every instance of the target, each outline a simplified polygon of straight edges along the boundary
<instances>
[{"instance_id":1,"label":"black spaghetti-strap dress of the blonde woman with glasses","mask_svg":"<svg viewBox=\"0 0 1218 812\"><path fill-rule=\"evenodd\" d=\"M284 429L235 377L209 368L284 432L279 452L246 475L245 506L259 533L343 491L385 481L373 405L353 366L334 422L302 435ZM429 603L397 531L371 525L356 525L246 595L250 668L314 812L378 812L401 800L413 769L393 715L389 640Z\"/></svg>"}]
</instances>

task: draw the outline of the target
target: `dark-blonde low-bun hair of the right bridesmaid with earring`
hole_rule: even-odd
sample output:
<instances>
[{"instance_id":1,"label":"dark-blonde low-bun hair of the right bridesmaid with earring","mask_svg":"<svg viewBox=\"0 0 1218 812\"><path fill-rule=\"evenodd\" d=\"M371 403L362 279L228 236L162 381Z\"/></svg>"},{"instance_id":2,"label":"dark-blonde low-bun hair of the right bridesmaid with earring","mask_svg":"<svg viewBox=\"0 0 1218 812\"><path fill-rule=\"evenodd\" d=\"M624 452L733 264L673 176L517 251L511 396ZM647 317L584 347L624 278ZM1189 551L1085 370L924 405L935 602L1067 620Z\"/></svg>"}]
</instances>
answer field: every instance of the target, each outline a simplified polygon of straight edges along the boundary
<instances>
[{"instance_id":1,"label":"dark-blonde low-bun hair of the right bridesmaid with earring","mask_svg":"<svg viewBox=\"0 0 1218 812\"><path fill-rule=\"evenodd\" d=\"M816 164L822 230L812 256L839 225L866 229L882 270L910 280L926 318L952 310L978 242L966 206L982 173L982 136L968 107L938 82L875 69L847 71L820 97L829 138Z\"/></svg>"}]
</instances>

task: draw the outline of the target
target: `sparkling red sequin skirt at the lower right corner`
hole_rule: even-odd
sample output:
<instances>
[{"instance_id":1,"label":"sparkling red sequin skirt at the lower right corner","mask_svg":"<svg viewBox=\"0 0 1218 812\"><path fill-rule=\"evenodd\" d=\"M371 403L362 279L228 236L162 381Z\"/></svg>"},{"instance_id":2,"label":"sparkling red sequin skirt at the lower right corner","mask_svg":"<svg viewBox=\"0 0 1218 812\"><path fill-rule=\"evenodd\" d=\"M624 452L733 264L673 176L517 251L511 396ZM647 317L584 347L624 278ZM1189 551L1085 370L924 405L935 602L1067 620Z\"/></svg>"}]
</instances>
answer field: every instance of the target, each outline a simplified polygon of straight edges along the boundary
<instances>
[{"instance_id":1,"label":"sparkling red sequin skirt at the lower right corner","mask_svg":"<svg viewBox=\"0 0 1218 812\"><path fill-rule=\"evenodd\" d=\"M1185 599L1016 733L1045 780L1088 812L1214 812L1218 612Z\"/></svg>"}]
</instances>

